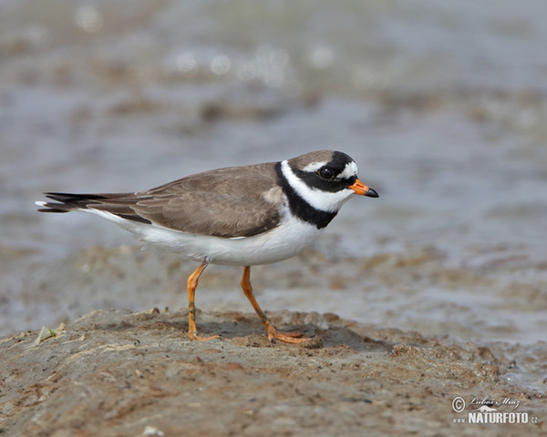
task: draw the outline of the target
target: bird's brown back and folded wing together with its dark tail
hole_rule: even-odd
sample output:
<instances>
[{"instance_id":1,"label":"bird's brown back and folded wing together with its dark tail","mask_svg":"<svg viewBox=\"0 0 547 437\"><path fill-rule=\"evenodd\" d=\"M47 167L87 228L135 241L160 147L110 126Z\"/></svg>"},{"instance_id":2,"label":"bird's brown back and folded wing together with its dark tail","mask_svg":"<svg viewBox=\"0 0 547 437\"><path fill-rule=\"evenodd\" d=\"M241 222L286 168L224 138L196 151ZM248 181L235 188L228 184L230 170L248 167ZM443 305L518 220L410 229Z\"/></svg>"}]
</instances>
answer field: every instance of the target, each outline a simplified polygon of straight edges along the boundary
<instances>
[{"instance_id":1,"label":"bird's brown back and folded wing together with its dark tail","mask_svg":"<svg viewBox=\"0 0 547 437\"><path fill-rule=\"evenodd\" d=\"M280 193L274 164L258 164L206 171L135 194L46 193L62 203L46 203L48 209L41 210L94 208L185 232L250 237L279 224L279 205L274 200Z\"/></svg>"}]
</instances>

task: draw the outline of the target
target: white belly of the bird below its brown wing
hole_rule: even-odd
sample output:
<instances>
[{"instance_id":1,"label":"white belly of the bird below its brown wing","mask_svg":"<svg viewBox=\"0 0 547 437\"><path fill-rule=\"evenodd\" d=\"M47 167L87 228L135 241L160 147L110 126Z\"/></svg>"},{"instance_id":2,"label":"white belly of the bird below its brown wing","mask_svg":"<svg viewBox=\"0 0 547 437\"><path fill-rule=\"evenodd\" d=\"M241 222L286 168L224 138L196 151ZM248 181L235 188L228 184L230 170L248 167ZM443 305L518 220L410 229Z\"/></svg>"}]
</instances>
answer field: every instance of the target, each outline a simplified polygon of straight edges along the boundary
<instances>
[{"instance_id":1,"label":"white belly of the bird below its brown wing","mask_svg":"<svg viewBox=\"0 0 547 437\"><path fill-rule=\"evenodd\" d=\"M158 244L182 256L235 266L269 264L291 258L308 247L321 233L320 229L292 215L285 216L277 228L262 234L223 239L119 219L118 216L102 211L93 212L115 221L143 241Z\"/></svg>"}]
</instances>

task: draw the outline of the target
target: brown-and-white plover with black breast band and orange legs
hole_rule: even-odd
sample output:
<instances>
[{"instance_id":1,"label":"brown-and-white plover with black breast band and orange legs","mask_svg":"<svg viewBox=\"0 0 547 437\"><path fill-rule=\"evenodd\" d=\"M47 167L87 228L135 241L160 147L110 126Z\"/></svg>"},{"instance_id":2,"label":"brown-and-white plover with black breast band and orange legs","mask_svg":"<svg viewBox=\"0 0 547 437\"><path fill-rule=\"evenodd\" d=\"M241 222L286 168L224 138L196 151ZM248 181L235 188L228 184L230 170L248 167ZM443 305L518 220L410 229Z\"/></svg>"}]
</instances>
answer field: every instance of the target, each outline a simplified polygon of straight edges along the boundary
<instances>
[{"instance_id":1,"label":"brown-and-white plover with black breast band and orange legs","mask_svg":"<svg viewBox=\"0 0 547 437\"><path fill-rule=\"evenodd\" d=\"M40 212L96 214L140 240L200 262L187 282L190 340L220 338L198 335L195 291L209 264L224 264L243 267L243 293L268 340L288 343L313 337L274 327L254 298L251 267L289 259L309 247L349 198L378 197L357 178L356 161L335 150L216 168L145 191L43 194L49 200L36 201Z\"/></svg>"}]
</instances>

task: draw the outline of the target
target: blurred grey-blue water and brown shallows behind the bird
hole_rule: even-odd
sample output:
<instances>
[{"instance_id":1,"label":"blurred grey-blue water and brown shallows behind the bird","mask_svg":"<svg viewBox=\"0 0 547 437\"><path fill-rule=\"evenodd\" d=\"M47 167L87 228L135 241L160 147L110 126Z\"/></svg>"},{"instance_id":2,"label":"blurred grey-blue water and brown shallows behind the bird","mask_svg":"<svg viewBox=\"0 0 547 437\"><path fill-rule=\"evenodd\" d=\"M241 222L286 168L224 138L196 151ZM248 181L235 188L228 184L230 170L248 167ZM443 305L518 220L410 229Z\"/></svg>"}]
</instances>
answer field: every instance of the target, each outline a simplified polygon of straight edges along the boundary
<instances>
[{"instance_id":1,"label":"blurred grey-blue water and brown shallows behind the bird","mask_svg":"<svg viewBox=\"0 0 547 437\"><path fill-rule=\"evenodd\" d=\"M185 305L194 265L96 217L37 214L42 191L334 148L380 198L255 269L263 307L533 354L547 340L545 16L542 0L3 0L0 332ZM252 310L239 275L208 269L198 306Z\"/></svg>"}]
</instances>

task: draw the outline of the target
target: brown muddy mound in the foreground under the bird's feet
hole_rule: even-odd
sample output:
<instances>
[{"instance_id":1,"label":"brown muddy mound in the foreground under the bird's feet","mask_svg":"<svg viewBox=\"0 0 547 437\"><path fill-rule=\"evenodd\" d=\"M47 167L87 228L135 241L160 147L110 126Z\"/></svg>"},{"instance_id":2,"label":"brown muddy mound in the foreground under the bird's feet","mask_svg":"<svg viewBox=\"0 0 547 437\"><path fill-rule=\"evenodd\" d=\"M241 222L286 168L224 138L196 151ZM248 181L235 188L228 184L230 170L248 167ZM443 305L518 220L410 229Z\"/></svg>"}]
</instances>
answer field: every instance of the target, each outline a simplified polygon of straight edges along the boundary
<instances>
[{"instance_id":1,"label":"brown muddy mound in the foreground under the bird's feet","mask_svg":"<svg viewBox=\"0 0 547 437\"><path fill-rule=\"evenodd\" d=\"M545 393L508 377L544 365L545 348L527 356L332 313L270 315L323 341L272 344L254 314L200 311L201 332L222 340L191 342L183 310L97 310L39 342L36 330L7 336L0 434L547 435ZM457 422L485 399L528 423Z\"/></svg>"}]
</instances>

